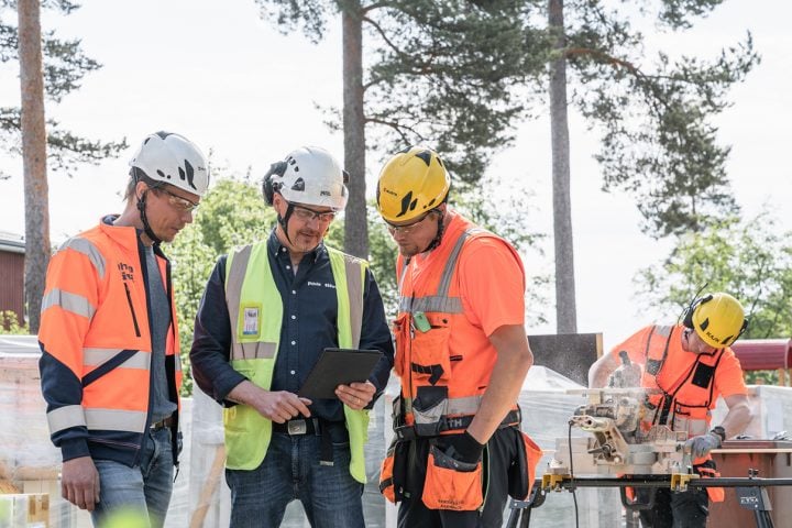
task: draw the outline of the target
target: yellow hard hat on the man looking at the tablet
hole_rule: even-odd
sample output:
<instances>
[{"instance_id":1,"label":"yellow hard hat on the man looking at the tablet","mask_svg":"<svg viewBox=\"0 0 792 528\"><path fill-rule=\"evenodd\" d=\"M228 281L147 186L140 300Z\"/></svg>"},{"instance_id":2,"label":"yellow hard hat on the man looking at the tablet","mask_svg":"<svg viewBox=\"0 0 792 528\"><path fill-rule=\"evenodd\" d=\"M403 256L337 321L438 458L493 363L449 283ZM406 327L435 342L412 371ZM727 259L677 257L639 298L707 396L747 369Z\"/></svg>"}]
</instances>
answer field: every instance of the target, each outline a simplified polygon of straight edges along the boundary
<instances>
[{"instance_id":1,"label":"yellow hard hat on the man looking at the tablet","mask_svg":"<svg viewBox=\"0 0 792 528\"><path fill-rule=\"evenodd\" d=\"M420 218L446 201L451 178L437 152L410 146L393 156L380 172L377 210L386 222Z\"/></svg>"}]
</instances>

